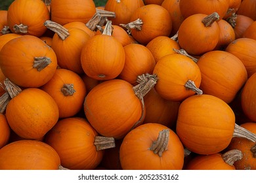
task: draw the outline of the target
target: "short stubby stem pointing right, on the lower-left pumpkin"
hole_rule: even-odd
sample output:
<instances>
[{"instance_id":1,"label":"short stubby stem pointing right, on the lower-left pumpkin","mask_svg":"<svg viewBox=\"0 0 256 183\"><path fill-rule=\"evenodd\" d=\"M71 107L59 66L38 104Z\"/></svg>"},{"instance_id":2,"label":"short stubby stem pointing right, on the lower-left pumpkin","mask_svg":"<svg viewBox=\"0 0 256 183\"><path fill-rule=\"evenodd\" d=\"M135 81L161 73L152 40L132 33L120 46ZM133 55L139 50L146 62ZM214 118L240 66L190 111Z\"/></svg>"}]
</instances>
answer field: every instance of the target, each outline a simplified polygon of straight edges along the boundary
<instances>
[{"instance_id":1,"label":"short stubby stem pointing right, on the lower-left pumpkin","mask_svg":"<svg viewBox=\"0 0 256 183\"><path fill-rule=\"evenodd\" d=\"M114 137L96 136L94 144L96 146L96 151L116 147Z\"/></svg>"}]
</instances>

